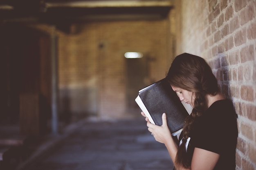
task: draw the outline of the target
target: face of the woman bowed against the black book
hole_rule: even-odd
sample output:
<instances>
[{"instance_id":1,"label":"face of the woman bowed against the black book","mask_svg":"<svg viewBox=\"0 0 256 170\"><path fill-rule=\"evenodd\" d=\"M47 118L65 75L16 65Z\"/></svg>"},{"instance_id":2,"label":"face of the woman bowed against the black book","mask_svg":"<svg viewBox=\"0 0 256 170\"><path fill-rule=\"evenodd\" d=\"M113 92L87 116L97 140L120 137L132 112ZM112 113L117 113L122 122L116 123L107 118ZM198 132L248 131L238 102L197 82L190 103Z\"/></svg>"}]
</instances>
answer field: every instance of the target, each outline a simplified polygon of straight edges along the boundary
<instances>
[{"instance_id":1,"label":"face of the woman bowed against the black book","mask_svg":"<svg viewBox=\"0 0 256 170\"><path fill-rule=\"evenodd\" d=\"M193 107L195 97L192 92L189 92L185 89L181 89L179 87L174 87L174 86L171 86L171 87L173 91L176 92L176 94L180 98L180 101L184 101L186 104L189 104L191 105L191 107Z\"/></svg>"}]
</instances>

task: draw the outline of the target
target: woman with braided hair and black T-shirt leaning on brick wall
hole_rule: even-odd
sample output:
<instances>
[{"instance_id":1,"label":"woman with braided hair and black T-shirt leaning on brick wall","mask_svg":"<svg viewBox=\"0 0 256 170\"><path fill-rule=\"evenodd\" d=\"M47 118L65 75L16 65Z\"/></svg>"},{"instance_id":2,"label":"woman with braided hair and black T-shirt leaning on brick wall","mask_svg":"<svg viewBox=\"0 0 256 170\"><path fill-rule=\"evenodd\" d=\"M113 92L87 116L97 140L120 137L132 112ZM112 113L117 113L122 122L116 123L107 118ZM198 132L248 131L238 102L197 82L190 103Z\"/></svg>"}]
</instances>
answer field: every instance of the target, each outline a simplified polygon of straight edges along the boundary
<instances>
[{"instance_id":1,"label":"woman with braided hair and black T-shirt leaning on brick wall","mask_svg":"<svg viewBox=\"0 0 256 170\"><path fill-rule=\"evenodd\" d=\"M193 107L185 120L180 145L176 145L168 129L165 113L162 126L151 124L148 118L146 121L155 140L165 144L175 168L234 170L237 115L232 102L219 92L210 66L201 57L180 54L171 64L166 78L180 100Z\"/></svg>"}]
</instances>

